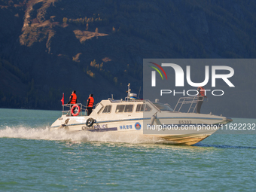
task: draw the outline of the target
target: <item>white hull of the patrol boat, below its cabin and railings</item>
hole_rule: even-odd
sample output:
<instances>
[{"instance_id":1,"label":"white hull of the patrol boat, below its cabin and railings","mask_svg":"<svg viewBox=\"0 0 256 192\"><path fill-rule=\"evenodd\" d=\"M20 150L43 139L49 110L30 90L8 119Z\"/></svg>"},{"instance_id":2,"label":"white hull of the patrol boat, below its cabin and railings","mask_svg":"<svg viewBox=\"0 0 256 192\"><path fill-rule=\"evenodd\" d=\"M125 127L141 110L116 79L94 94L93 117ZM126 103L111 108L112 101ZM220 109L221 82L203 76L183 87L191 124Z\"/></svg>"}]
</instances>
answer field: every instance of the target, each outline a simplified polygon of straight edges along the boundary
<instances>
[{"instance_id":1,"label":"white hull of the patrol boat, below its cabin and railings","mask_svg":"<svg viewBox=\"0 0 256 192\"><path fill-rule=\"evenodd\" d=\"M183 117L178 117L177 114L182 114ZM210 114L200 114L200 117L195 117L195 114L186 114L184 117L183 113L173 113L173 117L158 117L154 120L154 124L151 127L157 127L157 125L169 125L169 128L175 126L181 129L181 126L191 126L194 129L190 130L154 130L153 133L148 130L148 124L151 123L150 118L126 118L119 120L96 120L92 126L87 126L87 119L91 118L88 116L82 117L71 117L62 115L53 125L50 130L63 129L69 132L99 132L99 133L111 133L111 134L136 134L138 136L148 136L151 138L161 139L163 142L172 143L175 145L194 145L197 142L206 139L211 136L215 131L221 128L221 125L230 122L230 119L226 117L213 116ZM198 116L198 115L197 115ZM96 117L95 117L96 119ZM69 122L65 124L66 120ZM137 125L137 127L136 127ZM139 126L138 126L139 125ZM197 125L197 126L196 126ZM198 125L215 125L215 129L198 129ZM216 128L217 127L217 128ZM167 133L168 132L168 133Z\"/></svg>"}]
</instances>

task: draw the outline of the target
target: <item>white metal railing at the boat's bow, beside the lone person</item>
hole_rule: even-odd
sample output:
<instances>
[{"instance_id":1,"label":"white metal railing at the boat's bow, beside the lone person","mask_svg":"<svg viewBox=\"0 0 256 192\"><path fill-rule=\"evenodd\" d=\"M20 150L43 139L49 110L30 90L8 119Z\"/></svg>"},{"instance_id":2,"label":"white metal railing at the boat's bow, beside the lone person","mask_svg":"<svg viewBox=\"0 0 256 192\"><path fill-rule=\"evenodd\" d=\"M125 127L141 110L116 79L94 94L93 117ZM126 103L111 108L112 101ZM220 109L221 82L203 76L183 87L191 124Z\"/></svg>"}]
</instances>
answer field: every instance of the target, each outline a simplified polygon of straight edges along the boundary
<instances>
[{"instance_id":1,"label":"white metal railing at the boat's bow, beside the lone person","mask_svg":"<svg viewBox=\"0 0 256 192\"><path fill-rule=\"evenodd\" d=\"M188 105L187 113L194 113L197 108L197 99L198 96L181 97L178 99L178 102L173 111L179 112L181 111L181 108L184 107L183 105Z\"/></svg>"}]
</instances>

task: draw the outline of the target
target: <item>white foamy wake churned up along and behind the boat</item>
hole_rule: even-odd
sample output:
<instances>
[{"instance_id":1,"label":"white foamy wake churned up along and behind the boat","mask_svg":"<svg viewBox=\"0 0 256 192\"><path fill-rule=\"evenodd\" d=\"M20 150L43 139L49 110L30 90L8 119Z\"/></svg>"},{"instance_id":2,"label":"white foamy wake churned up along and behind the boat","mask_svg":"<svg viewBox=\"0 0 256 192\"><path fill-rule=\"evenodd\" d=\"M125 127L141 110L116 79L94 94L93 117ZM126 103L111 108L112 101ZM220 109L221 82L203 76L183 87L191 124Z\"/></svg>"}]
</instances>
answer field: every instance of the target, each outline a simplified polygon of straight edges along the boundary
<instances>
[{"instance_id":1,"label":"white foamy wake churned up along and behind the boat","mask_svg":"<svg viewBox=\"0 0 256 192\"><path fill-rule=\"evenodd\" d=\"M31 128L26 126L6 126L0 130L0 138L44 139L70 142L124 142L124 143L160 143L162 139L138 135L137 133L110 133L110 132L75 132L65 130L50 131L48 127Z\"/></svg>"}]
</instances>

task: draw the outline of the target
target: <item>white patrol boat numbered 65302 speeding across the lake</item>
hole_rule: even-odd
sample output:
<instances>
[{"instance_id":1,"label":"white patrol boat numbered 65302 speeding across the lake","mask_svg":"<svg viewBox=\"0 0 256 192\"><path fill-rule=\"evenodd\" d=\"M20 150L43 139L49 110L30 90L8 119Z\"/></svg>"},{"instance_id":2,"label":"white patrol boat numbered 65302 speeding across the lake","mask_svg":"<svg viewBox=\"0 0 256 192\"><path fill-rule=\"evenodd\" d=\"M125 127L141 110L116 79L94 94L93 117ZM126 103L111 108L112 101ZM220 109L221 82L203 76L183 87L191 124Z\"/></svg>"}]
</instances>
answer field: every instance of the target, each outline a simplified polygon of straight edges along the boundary
<instances>
[{"instance_id":1,"label":"white patrol boat numbered 65302 speeding across the lake","mask_svg":"<svg viewBox=\"0 0 256 192\"><path fill-rule=\"evenodd\" d=\"M187 111L181 108L187 105ZM68 107L68 110L65 108ZM211 114L196 114L197 96L181 97L174 109L168 104L138 99L130 93L128 85L125 99L112 98L96 104L90 116L81 103L62 105L62 116L51 126L50 130L67 130L70 132L111 132L113 134L136 134L176 145L194 145L206 139L232 119Z\"/></svg>"}]
</instances>

